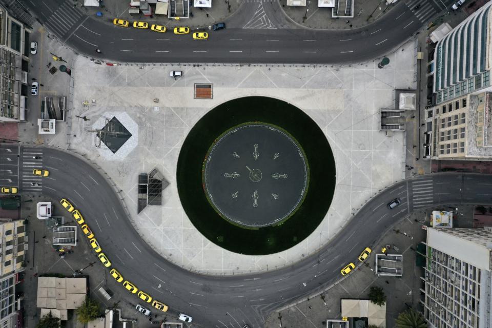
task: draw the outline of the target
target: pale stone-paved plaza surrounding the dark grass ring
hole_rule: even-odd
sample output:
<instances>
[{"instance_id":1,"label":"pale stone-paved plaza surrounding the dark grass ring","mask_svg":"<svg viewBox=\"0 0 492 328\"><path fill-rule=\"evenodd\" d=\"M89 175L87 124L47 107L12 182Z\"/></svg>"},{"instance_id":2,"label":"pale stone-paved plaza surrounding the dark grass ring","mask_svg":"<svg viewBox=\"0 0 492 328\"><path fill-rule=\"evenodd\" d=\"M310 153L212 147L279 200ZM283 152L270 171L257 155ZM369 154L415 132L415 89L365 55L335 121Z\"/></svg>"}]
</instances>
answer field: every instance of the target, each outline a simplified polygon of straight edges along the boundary
<instances>
[{"instance_id":1,"label":"pale stone-paved plaza surrounding the dark grass ring","mask_svg":"<svg viewBox=\"0 0 492 328\"><path fill-rule=\"evenodd\" d=\"M79 56L73 68L71 150L112 178L136 229L165 258L210 274L280 268L315 253L367 199L404 177L404 134L379 132L378 113L380 108L394 108L394 89L414 88L415 51L414 43L408 42L387 55L390 64L383 69L377 68L377 60L343 67L110 67ZM184 77L169 77L171 70L182 70ZM213 84L213 99L195 99L195 83ZM204 238L183 211L176 187L180 147L197 120L224 101L252 95L278 98L309 114L329 140L337 168L334 199L320 226L295 247L267 256L235 254ZM81 105L92 99L95 106ZM113 117L132 135L115 154L104 145L96 147L93 132ZM163 192L162 207L148 206L137 214L138 174L153 168L170 186Z\"/></svg>"}]
</instances>

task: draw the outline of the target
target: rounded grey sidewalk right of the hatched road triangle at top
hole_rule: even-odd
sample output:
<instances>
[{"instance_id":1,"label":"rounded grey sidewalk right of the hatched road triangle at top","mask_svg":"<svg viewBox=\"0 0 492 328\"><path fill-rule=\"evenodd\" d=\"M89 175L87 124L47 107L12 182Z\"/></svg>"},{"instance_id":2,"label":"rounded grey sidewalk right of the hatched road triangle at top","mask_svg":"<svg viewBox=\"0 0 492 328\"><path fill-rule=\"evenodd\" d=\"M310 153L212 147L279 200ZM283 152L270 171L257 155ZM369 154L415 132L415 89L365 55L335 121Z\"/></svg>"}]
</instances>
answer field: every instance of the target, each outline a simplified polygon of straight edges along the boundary
<instances>
[{"instance_id":1,"label":"rounded grey sidewalk right of the hatched road triangle at top","mask_svg":"<svg viewBox=\"0 0 492 328\"><path fill-rule=\"evenodd\" d=\"M353 18L332 18L332 8L319 8L316 0L307 1L305 7L287 6L287 0L279 0L282 11L295 23L312 29L355 29L373 23L389 12L381 0L354 0ZM306 11L306 9L309 9ZM304 18L305 17L305 18Z\"/></svg>"}]
</instances>

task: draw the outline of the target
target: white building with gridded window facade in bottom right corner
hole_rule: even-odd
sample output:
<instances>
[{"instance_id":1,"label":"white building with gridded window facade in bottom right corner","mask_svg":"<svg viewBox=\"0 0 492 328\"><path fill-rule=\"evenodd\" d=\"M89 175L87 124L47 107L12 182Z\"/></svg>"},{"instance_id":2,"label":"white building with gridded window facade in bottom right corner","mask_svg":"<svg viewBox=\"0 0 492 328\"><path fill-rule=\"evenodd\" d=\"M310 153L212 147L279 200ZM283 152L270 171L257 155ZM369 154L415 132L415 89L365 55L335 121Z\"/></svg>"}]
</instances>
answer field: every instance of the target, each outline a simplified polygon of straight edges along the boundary
<instances>
[{"instance_id":1,"label":"white building with gridded window facade in bottom right corner","mask_svg":"<svg viewBox=\"0 0 492 328\"><path fill-rule=\"evenodd\" d=\"M434 328L492 326L492 229L427 229L424 317Z\"/></svg>"}]
</instances>

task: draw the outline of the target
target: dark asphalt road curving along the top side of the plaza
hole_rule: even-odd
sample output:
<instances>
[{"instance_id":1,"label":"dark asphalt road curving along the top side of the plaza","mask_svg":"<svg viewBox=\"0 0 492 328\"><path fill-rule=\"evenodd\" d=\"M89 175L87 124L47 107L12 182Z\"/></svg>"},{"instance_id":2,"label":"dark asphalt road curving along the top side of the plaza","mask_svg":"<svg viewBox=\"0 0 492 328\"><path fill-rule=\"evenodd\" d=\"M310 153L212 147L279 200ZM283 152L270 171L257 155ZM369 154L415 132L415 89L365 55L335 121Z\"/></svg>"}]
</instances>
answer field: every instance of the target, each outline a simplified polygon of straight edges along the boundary
<instances>
[{"instance_id":1,"label":"dark asphalt road curving along the top side of the plaza","mask_svg":"<svg viewBox=\"0 0 492 328\"><path fill-rule=\"evenodd\" d=\"M454 0L400 1L375 23L347 30L301 28L285 18L278 2L265 2L261 10L258 3L244 3L226 20L228 28L209 31L208 40L193 40L191 34L175 35L171 31L117 27L111 23L114 17L87 16L67 0L22 1L62 42L79 53L101 59L138 63L342 64L387 54ZM420 7L415 9L415 4ZM257 23L265 20L269 22L266 25ZM183 24L186 25L184 20ZM269 26L275 28L266 28ZM96 48L102 53L96 54Z\"/></svg>"}]
</instances>

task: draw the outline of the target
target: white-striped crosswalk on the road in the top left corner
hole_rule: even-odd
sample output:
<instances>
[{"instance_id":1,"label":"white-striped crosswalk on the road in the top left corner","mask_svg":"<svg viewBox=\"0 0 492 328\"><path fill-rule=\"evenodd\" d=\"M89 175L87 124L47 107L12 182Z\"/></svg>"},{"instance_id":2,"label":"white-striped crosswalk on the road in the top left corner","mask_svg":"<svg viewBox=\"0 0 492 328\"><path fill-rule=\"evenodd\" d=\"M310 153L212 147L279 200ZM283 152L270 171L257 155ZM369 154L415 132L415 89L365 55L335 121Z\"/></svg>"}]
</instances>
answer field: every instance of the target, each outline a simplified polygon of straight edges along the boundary
<instances>
[{"instance_id":1,"label":"white-striped crosswalk on the road in the top left corner","mask_svg":"<svg viewBox=\"0 0 492 328\"><path fill-rule=\"evenodd\" d=\"M54 11L51 8L49 9L52 14L47 17L45 24L53 33L61 36L73 31L73 26L79 23L84 16L80 9L73 7L73 4L68 1L56 9L53 8L55 9Z\"/></svg>"}]
</instances>

